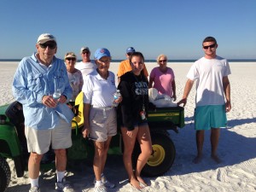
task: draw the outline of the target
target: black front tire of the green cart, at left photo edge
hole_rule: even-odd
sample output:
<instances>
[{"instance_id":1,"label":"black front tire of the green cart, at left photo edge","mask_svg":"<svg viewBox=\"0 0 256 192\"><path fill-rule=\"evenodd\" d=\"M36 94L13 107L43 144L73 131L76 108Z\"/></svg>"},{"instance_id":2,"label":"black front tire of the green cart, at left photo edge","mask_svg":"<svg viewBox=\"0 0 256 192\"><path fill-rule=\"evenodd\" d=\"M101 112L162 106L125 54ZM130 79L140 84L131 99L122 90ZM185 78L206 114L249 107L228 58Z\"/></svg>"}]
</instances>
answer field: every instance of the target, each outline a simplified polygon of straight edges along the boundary
<instances>
[{"instance_id":1,"label":"black front tire of the green cart, at left photo edge","mask_svg":"<svg viewBox=\"0 0 256 192\"><path fill-rule=\"evenodd\" d=\"M9 186L11 172L9 164L0 156L0 191L5 191Z\"/></svg>"}]
</instances>

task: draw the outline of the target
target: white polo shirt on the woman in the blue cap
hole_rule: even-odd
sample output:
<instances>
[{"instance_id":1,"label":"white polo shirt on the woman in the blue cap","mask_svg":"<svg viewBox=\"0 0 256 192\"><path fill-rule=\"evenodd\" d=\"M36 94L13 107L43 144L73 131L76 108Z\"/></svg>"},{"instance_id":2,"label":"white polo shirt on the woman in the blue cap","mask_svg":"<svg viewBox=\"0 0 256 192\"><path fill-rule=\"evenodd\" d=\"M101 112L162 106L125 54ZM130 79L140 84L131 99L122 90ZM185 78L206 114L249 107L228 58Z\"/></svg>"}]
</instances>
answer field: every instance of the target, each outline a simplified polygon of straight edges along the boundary
<instances>
[{"instance_id":1,"label":"white polo shirt on the woman in the blue cap","mask_svg":"<svg viewBox=\"0 0 256 192\"><path fill-rule=\"evenodd\" d=\"M108 71L108 79L102 79L94 70L84 79L84 103L90 103L95 108L111 107L113 93L116 92L114 74Z\"/></svg>"}]
</instances>

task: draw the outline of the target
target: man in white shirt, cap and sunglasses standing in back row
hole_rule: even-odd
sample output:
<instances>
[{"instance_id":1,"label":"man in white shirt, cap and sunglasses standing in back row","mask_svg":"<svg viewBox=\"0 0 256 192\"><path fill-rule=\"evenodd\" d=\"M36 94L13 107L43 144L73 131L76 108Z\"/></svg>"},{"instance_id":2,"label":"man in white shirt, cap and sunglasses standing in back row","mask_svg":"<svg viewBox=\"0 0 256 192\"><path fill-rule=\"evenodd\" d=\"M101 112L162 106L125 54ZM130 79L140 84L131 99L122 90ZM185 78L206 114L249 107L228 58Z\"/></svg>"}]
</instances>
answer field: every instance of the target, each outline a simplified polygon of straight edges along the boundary
<instances>
[{"instance_id":1,"label":"man in white shirt, cap and sunglasses standing in back row","mask_svg":"<svg viewBox=\"0 0 256 192\"><path fill-rule=\"evenodd\" d=\"M79 69L83 74L83 79L85 76L96 69L95 61L90 60L90 49L89 47L82 47L80 49L80 54L82 56L83 61L78 62L75 65L75 68Z\"/></svg>"}]
</instances>

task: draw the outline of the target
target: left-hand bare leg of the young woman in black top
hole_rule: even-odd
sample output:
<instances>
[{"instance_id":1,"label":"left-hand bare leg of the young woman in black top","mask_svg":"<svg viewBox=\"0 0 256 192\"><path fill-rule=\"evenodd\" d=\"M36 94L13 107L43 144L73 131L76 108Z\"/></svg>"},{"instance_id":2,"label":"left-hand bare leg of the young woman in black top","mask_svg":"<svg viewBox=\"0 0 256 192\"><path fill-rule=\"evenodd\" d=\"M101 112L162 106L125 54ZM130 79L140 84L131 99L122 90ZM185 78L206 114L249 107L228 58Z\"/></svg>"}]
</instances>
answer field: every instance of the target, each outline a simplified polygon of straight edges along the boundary
<instances>
[{"instance_id":1,"label":"left-hand bare leg of the young woman in black top","mask_svg":"<svg viewBox=\"0 0 256 192\"><path fill-rule=\"evenodd\" d=\"M126 134L127 129L125 127L122 127L121 131L122 131L122 137L124 142L123 160L124 160L125 170L128 174L131 185L137 189L142 189L139 181L137 180L137 177L135 177L134 172L132 170L132 161L131 161L131 154L136 142L138 128L136 127L132 131L131 137Z\"/></svg>"}]
</instances>

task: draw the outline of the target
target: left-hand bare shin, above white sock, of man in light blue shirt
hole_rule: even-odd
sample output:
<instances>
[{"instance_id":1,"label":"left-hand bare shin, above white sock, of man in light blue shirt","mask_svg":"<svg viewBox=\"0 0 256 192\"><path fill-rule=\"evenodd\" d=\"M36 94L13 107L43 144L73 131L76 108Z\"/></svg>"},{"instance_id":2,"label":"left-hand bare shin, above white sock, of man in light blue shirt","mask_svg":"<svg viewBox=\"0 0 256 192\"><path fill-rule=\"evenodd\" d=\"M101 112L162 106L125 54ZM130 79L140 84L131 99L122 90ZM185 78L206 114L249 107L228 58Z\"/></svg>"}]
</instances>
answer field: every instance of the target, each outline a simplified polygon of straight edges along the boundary
<instances>
[{"instance_id":1,"label":"left-hand bare shin, above white sock, of man in light blue shirt","mask_svg":"<svg viewBox=\"0 0 256 192\"><path fill-rule=\"evenodd\" d=\"M44 154L30 153L28 160L28 177L36 179L39 177L40 162Z\"/></svg>"}]
</instances>

